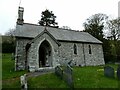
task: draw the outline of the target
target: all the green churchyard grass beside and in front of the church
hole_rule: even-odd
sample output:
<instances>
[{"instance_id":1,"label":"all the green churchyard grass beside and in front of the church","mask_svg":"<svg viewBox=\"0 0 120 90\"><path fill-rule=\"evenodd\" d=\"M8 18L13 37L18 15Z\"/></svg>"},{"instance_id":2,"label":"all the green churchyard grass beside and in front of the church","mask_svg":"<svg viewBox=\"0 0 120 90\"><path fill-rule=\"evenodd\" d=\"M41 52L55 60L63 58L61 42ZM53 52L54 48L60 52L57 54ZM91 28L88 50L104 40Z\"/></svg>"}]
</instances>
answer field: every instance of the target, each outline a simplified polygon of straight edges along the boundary
<instances>
[{"instance_id":1,"label":"all the green churchyard grass beside and in front of the church","mask_svg":"<svg viewBox=\"0 0 120 90\"><path fill-rule=\"evenodd\" d=\"M11 55L12 54L3 54L2 57L2 87L21 88L20 76L29 74L30 72L15 72L14 60L11 60ZM117 72L117 70L119 72ZM72 67L72 79L74 88L120 88L120 80L118 80L120 79L120 68L118 68L117 64ZM59 77L54 72L29 77L27 78L27 84L28 89L69 88L69 85L64 81L63 77Z\"/></svg>"}]
</instances>

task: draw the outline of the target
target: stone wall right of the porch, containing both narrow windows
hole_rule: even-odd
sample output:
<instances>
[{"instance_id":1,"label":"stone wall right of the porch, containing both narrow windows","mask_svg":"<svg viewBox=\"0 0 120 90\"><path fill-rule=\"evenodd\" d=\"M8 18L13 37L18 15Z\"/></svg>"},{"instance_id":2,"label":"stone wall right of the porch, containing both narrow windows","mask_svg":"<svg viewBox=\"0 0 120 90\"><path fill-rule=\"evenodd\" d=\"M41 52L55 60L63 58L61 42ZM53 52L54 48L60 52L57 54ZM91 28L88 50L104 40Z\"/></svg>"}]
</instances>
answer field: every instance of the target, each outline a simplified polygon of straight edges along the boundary
<instances>
[{"instance_id":1,"label":"stone wall right of the porch, containing both narrow windows","mask_svg":"<svg viewBox=\"0 0 120 90\"><path fill-rule=\"evenodd\" d=\"M60 64L67 64L71 60L76 66L95 66L104 64L102 45L71 42L60 43ZM77 54L74 54L74 44L77 46ZM89 45L91 46L92 54L89 54Z\"/></svg>"}]
</instances>

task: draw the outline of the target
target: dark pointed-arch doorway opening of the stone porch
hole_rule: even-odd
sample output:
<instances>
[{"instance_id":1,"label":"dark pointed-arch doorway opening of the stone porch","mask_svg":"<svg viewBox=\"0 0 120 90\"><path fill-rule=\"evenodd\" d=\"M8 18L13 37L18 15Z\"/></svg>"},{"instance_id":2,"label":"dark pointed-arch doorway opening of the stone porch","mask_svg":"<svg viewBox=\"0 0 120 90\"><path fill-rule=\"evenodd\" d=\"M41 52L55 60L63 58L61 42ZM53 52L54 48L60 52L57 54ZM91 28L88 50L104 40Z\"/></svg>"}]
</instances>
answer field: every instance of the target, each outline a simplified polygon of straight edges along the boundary
<instances>
[{"instance_id":1,"label":"dark pointed-arch doorway opening of the stone porch","mask_svg":"<svg viewBox=\"0 0 120 90\"><path fill-rule=\"evenodd\" d=\"M51 46L47 40L43 41L39 47L39 68L52 66Z\"/></svg>"}]
</instances>

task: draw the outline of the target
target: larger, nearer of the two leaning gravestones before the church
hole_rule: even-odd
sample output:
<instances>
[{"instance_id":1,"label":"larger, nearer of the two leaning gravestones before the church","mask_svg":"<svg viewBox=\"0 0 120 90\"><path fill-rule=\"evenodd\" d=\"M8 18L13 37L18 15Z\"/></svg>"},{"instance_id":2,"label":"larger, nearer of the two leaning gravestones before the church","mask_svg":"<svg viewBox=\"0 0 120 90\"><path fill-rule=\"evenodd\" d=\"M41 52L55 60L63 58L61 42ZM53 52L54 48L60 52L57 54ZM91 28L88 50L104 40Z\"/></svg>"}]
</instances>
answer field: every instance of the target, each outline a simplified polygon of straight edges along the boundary
<instances>
[{"instance_id":1,"label":"larger, nearer of the two leaning gravestones before the church","mask_svg":"<svg viewBox=\"0 0 120 90\"><path fill-rule=\"evenodd\" d=\"M69 65L65 67L63 71L63 79L71 88L74 88L72 71L73 70Z\"/></svg>"}]
</instances>

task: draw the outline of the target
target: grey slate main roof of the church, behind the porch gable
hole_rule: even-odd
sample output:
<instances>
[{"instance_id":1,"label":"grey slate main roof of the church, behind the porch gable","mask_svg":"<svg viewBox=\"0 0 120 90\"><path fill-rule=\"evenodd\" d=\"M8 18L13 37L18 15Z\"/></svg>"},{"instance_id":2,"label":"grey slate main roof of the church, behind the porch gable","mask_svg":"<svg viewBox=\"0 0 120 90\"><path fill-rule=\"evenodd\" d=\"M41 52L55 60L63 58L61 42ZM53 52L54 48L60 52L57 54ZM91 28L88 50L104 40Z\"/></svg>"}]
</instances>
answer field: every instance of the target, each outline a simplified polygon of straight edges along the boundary
<instances>
[{"instance_id":1,"label":"grey slate main roof of the church, behind the porch gable","mask_svg":"<svg viewBox=\"0 0 120 90\"><path fill-rule=\"evenodd\" d=\"M44 26L33 25L24 23L23 25L17 25L15 36L17 37L28 37L28 38L35 38L45 29ZM47 31L56 40L61 41L76 41L76 42L88 42L88 43L102 43L92 35L86 32L80 32L75 30L65 30L60 28L52 28L46 27Z\"/></svg>"}]
</instances>

